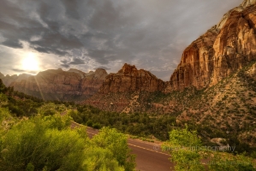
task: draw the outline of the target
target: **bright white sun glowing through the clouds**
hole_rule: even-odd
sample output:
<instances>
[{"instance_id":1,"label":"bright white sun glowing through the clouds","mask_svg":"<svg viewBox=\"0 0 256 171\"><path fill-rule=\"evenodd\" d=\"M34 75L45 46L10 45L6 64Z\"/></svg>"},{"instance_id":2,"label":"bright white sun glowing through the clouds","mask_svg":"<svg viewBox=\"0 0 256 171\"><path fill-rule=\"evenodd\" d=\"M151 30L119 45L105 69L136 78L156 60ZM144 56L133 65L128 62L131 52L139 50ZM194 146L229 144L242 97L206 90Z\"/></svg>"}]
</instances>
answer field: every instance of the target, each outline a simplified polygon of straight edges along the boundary
<instances>
[{"instance_id":1,"label":"bright white sun glowing through the clouds","mask_svg":"<svg viewBox=\"0 0 256 171\"><path fill-rule=\"evenodd\" d=\"M22 60L22 68L27 71L38 71L39 70L39 61L35 54L29 53Z\"/></svg>"}]
</instances>

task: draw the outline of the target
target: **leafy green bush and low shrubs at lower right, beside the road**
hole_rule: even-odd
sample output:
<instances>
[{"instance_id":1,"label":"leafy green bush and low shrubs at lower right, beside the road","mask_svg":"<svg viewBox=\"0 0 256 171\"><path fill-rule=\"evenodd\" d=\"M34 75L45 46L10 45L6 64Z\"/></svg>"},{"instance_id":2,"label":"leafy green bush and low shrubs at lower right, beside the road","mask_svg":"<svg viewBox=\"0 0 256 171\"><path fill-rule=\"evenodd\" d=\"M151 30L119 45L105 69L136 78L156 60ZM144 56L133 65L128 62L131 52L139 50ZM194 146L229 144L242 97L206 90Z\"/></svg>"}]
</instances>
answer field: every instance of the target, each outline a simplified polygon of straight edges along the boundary
<instances>
[{"instance_id":1,"label":"leafy green bush and low shrubs at lower right, beside the road","mask_svg":"<svg viewBox=\"0 0 256 171\"><path fill-rule=\"evenodd\" d=\"M197 136L197 132L172 130L170 139L162 145L170 151L171 161L175 162L176 171L255 171L255 162L244 155L230 155L221 150L209 150Z\"/></svg>"}]
</instances>

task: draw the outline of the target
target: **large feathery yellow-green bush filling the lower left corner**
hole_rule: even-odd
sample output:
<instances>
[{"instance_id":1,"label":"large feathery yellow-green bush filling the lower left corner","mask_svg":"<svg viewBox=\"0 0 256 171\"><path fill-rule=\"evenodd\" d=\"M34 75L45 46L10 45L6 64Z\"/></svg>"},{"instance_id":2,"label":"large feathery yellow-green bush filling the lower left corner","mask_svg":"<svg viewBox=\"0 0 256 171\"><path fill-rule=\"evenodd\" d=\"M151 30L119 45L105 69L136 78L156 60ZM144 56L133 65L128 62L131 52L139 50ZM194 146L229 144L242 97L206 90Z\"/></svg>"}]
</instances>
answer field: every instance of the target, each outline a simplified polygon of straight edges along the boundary
<instances>
[{"instance_id":1,"label":"large feathery yellow-green bush filling the lower left corner","mask_svg":"<svg viewBox=\"0 0 256 171\"><path fill-rule=\"evenodd\" d=\"M21 121L2 137L0 170L85 170L86 139L67 129L61 118Z\"/></svg>"}]
</instances>

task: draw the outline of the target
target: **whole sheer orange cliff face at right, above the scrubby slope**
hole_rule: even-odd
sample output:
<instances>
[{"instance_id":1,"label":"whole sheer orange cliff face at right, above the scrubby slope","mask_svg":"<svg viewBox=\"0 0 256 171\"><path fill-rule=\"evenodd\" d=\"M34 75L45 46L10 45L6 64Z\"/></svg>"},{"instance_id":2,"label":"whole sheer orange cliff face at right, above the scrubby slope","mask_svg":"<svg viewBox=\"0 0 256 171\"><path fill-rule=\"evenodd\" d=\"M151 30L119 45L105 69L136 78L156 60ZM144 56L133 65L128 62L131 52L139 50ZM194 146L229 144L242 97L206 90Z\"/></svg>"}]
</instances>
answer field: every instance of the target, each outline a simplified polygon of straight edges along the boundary
<instances>
[{"instance_id":1,"label":"whole sheer orange cliff face at right, above the scrubby slope","mask_svg":"<svg viewBox=\"0 0 256 171\"><path fill-rule=\"evenodd\" d=\"M246 0L184 50L166 91L215 85L256 60L256 4Z\"/></svg>"}]
</instances>

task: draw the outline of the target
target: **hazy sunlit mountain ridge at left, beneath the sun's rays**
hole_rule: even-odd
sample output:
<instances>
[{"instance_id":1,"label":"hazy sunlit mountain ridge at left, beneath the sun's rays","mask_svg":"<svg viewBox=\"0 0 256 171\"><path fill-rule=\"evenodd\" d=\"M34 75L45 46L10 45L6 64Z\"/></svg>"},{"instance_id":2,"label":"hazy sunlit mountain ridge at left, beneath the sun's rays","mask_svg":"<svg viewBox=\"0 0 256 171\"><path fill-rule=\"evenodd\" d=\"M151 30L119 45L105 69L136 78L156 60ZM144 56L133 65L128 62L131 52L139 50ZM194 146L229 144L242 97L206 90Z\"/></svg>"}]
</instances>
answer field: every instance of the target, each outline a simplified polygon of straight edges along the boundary
<instances>
[{"instance_id":1,"label":"hazy sunlit mountain ridge at left, beneath the sun's rays","mask_svg":"<svg viewBox=\"0 0 256 171\"><path fill-rule=\"evenodd\" d=\"M50 69L10 85L16 91L45 100L82 101L98 91L107 75L104 69L88 74L77 69Z\"/></svg>"}]
</instances>

